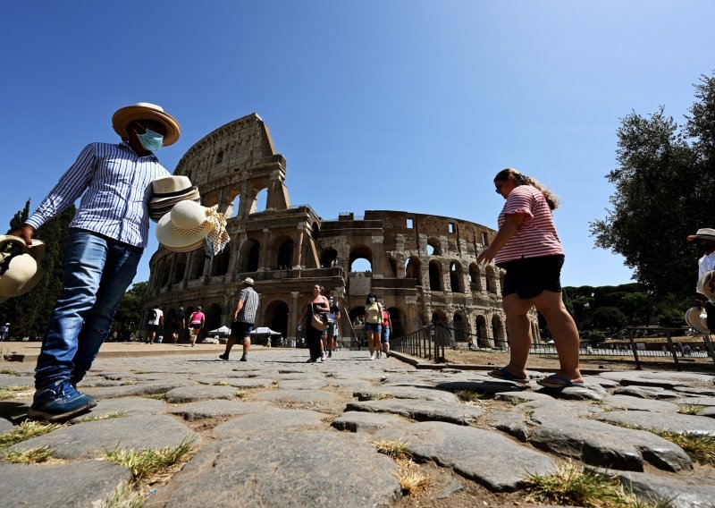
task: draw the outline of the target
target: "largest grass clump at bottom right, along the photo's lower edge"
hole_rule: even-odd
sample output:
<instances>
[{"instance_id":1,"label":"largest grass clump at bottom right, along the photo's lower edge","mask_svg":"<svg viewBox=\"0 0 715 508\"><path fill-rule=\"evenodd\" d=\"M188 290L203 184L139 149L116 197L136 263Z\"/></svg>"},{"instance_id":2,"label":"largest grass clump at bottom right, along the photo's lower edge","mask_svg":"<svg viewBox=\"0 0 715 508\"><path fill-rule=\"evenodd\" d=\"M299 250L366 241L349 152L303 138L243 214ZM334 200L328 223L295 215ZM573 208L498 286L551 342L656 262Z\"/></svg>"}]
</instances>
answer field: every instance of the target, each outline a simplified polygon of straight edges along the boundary
<instances>
[{"instance_id":1,"label":"largest grass clump at bottom right, along the photo's lower edge","mask_svg":"<svg viewBox=\"0 0 715 508\"><path fill-rule=\"evenodd\" d=\"M528 498L537 503L585 508L666 508L669 501L644 504L627 492L620 480L567 462L551 475L529 475Z\"/></svg>"}]
</instances>

